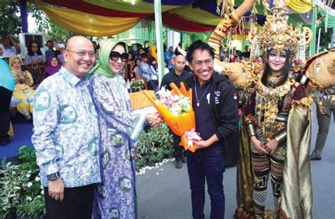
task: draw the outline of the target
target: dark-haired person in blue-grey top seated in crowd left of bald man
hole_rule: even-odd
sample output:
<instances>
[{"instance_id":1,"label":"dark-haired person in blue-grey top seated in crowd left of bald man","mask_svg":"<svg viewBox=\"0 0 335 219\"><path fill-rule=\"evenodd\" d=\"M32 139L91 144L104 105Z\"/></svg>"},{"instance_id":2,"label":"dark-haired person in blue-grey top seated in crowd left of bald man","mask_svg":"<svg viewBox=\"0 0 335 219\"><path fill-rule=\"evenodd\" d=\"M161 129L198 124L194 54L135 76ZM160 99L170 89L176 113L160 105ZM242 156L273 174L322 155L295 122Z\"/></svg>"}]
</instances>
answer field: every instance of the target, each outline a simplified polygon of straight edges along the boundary
<instances>
[{"instance_id":1,"label":"dark-haired person in blue-grey top seated in crowd left of bald man","mask_svg":"<svg viewBox=\"0 0 335 219\"><path fill-rule=\"evenodd\" d=\"M25 55L25 65L32 66L45 64L45 55L41 52L41 47L36 41L31 41L28 45L28 54Z\"/></svg>"}]
</instances>

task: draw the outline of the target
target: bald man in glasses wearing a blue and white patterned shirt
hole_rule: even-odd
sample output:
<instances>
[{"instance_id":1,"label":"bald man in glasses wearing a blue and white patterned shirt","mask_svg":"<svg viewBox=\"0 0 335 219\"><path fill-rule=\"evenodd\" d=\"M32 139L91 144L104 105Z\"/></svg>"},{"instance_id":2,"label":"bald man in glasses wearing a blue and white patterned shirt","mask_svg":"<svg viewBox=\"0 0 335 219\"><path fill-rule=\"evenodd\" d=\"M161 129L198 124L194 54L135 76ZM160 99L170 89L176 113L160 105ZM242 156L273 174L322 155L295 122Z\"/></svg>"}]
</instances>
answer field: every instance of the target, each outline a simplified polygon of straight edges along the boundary
<instances>
[{"instance_id":1,"label":"bald man in glasses wearing a blue and white patterned shirt","mask_svg":"<svg viewBox=\"0 0 335 219\"><path fill-rule=\"evenodd\" d=\"M98 161L98 114L88 90L92 42L71 37L65 65L36 90L32 142L45 190L47 218L92 217Z\"/></svg>"}]
</instances>

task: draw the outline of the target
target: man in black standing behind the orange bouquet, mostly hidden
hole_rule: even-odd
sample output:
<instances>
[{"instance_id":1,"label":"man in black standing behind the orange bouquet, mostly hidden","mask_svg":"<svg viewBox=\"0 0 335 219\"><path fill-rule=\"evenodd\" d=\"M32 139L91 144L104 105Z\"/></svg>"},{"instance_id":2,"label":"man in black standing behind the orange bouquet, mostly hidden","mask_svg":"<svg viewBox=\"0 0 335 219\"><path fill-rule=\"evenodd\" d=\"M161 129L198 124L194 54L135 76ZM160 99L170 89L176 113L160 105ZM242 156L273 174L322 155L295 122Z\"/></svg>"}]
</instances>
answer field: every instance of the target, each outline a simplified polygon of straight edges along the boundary
<instances>
[{"instance_id":1,"label":"man in black standing behind the orange bouquet, mostly hidden","mask_svg":"<svg viewBox=\"0 0 335 219\"><path fill-rule=\"evenodd\" d=\"M192 78L193 73L184 70L186 65L186 59L182 54L177 54L174 64L175 69L173 69L163 77L160 88L165 86L168 90L172 90L170 88L170 83L172 82L175 83L178 88L180 88L181 82L187 81L187 78ZM175 145L173 156L175 157L175 167L177 169L182 168L182 162L186 162L186 159L182 154L183 148L179 145L180 141L180 136L173 134L173 143Z\"/></svg>"}]
</instances>

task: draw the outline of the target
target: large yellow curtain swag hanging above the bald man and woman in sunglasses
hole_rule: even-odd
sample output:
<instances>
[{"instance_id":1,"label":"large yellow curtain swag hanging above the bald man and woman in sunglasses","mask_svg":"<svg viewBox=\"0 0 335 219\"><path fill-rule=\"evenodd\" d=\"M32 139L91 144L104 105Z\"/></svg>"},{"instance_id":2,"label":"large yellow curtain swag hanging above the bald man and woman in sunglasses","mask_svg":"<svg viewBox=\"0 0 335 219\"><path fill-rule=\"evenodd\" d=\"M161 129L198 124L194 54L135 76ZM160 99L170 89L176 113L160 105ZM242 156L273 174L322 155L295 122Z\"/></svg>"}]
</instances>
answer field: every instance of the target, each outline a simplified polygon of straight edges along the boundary
<instances>
[{"instance_id":1,"label":"large yellow curtain swag hanging above the bald man and woman in sunglasses","mask_svg":"<svg viewBox=\"0 0 335 219\"><path fill-rule=\"evenodd\" d=\"M139 23L142 18L113 18L83 13L69 8L35 4L47 16L62 27L83 35L108 36L124 32Z\"/></svg>"}]
</instances>

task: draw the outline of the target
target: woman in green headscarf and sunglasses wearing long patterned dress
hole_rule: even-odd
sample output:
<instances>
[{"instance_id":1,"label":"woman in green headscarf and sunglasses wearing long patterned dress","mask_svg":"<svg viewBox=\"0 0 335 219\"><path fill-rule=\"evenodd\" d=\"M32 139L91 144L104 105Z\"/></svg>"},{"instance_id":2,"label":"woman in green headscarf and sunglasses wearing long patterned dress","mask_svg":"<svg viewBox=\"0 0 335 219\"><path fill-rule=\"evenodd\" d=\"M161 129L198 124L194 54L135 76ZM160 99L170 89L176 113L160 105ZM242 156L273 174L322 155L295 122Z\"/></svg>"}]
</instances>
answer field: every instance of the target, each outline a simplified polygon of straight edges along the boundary
<instances>
[{"instance_id":1,"label":"woman in green headscarf and sunglasses wearing long patterned dress","mask_svg":"<svg viewBox=\"0 0 335 219\"><path fill-rule=\"evenodd\" d=\"M157 114L132 112L120 70L128 60L124 42L108 39L99 51L100 64L90 72L90 93L100 126L100 174L94 218L136 218L134 142L146 120L160 124Z\"/></svg>"}]
</instances>

